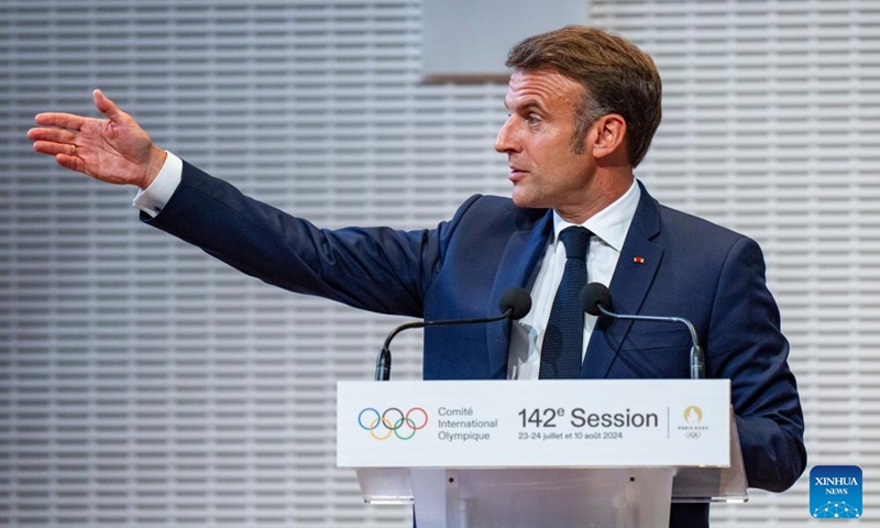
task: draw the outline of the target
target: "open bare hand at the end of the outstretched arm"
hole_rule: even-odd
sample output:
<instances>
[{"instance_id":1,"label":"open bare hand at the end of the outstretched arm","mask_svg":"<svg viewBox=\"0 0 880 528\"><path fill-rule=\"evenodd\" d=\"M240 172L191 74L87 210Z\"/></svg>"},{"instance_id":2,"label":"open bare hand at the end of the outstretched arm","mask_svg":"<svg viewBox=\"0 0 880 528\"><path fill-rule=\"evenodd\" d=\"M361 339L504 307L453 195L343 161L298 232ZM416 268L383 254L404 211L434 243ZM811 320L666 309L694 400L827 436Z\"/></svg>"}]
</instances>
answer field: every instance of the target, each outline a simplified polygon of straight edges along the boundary
<instances>
[{"instance_id":1,"label":"open bare hand at the end of the outstretched arm","mask_svg":"<svg viewBox=\"0 0 880 528\"><path fill-rule=\"evenodd\" d=\"M92 99L107 119L37 114L40 127L28 131L34 151L55 156L58 165L101 182L150 187L165 163L165 151L101 90L95 90Z\"/></svg>"}]
</instances>

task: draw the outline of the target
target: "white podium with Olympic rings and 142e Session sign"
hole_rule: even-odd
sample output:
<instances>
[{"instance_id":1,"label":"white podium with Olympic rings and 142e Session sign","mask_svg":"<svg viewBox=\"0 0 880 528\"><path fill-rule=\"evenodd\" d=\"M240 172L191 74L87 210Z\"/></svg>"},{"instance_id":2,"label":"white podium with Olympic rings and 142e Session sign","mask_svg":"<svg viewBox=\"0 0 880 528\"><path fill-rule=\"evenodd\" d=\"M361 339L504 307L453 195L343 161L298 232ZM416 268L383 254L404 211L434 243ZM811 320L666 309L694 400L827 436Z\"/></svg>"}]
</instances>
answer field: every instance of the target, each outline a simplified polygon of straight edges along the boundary
<instances>
[{"instance_id":1,"label":"white podium with Olympic rings and 142e Session sign","mask_svg":"<svg viewBox=\"0 0 880 528\"><path fill-rule=\"evenodd\" d=\"M339 382L337 457L419 528L667 528L746 502L727 380Z\"/></svg>"}]
</instances>

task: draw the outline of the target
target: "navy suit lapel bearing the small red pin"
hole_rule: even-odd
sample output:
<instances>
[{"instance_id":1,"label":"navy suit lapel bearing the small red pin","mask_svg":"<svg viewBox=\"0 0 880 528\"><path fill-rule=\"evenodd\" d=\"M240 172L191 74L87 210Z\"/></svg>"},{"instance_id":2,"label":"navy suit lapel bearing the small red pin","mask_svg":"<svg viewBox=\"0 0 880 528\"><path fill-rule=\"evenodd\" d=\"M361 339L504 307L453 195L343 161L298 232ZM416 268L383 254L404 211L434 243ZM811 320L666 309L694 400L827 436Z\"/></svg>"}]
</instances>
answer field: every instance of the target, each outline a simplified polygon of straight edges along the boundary
<instances>
[{"instance_id":1,"label":"navy suit lapel bearing the small red pin","mask_svg":"<svg viewBox=\"0 0 880 528\"><path fill-rule=\"evenodd\" d=\"M614 309L620 314L638 314L663 257L663 245L654 240L660 233L660 206L641 182L639 187L639 205L608 287ZM632 321L600 319L590 338L581 377L607 376L631 326Z\"/></svg>"}]
</instances>

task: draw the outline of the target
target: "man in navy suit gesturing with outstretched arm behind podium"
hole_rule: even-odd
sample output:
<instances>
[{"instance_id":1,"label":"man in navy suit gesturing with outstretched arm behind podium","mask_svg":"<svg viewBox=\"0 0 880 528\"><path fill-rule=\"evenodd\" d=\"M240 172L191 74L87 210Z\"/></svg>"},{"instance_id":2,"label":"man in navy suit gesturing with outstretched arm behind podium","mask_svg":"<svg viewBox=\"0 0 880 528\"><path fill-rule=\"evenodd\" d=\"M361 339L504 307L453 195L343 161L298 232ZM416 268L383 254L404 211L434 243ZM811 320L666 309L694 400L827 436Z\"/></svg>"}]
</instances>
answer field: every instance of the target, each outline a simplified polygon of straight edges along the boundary
<instances>
[{"instance_id":1,"label":"man in navy suit gesturing with outstretched arm behind podium","mask_svg":"<svg viewBox=\"0 0 880 528\"><path fill-rule=\"evenodd\" d=\"M583 227L588 280L609 285L618 311L693 322L707 377L732 381L749 485L787 490L806 464L803 416L761 251L659 205L632 175L660 122L653 62L623 38L570 26L527 38L507 65L509 118L495 147L508 157L513 199L472 197L421 231L318 229L160 150L97 90L107 119L44 113L29 136L65 167L139 186L144 221L294 292L427 319L494 316L508 287L531 292L521 321L428 330L429 380L546 377L556 360L543 338L570 256L560 233ZM688 377L685 330L579 322L580 377ZM670 526L707 525L707 506L673 505Z\"/></svg>"}]
</instances>

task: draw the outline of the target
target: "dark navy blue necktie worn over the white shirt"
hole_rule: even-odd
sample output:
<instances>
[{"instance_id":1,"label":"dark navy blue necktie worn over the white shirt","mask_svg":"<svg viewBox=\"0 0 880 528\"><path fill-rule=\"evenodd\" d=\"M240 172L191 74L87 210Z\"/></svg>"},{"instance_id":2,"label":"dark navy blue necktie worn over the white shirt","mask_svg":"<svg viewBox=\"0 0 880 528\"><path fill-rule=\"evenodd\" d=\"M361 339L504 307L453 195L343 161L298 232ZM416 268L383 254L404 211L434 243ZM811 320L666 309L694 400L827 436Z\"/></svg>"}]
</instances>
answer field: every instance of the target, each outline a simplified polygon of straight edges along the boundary
<instances>
[{"instance_id":1,"label":"dark navy blue necktie worn over the white shirt","mask_svg":"<svg viewBox=\"0 0 880 528\"><path fill-rule=\"evenodd\" d=\"M584 344L584 310L580 295L586 284L586 251L592 234L580 226L559 233L559 240L565 245L565 271L543 334L541 380L580 377Z\"/></svg>"}]
</instances>

